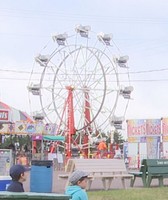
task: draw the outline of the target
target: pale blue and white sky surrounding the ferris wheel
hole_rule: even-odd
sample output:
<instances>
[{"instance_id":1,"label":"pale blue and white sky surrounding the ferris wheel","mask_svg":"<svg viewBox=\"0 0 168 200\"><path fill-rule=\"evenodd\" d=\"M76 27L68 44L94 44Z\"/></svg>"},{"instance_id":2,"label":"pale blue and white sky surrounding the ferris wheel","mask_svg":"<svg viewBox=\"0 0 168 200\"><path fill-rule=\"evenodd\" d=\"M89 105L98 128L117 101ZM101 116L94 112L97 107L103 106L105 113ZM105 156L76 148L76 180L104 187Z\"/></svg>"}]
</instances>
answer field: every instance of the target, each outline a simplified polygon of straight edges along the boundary
<instances>
[{"instance_id":1,"label":"pale blue and white sky surrounding the ferris wheel","mask_svg":"<svg viewBox=\"0 0 168 200\"><path fill-rule=\"evenodd\" d=\"M126 119L168 116L167 0L0 0L0 100L30 113L34 57L76 24L112 33L129 56L134 87Z\"/></svg>"}]
</instances>

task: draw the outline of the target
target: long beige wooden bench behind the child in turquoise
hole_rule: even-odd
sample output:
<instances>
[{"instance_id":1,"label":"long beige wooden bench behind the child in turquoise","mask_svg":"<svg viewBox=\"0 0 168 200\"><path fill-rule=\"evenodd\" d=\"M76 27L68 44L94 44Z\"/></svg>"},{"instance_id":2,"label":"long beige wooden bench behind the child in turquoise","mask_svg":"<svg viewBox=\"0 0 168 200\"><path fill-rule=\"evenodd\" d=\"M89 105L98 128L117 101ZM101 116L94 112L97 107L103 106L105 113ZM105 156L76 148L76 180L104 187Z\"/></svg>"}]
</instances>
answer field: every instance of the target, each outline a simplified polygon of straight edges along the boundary
<instances>
[{"instance_id":1,"label":"long beige wooden bench behind the child in turquoise","mask_svg":"<svg viewBox=\"0 0 168 200\"><path fill-rule=\"evenodd\" d=\"M87 189L91 188L95 179L101 179L104 189L108 190L115 178L120 178L126 188L125 179L133 178L133 175L127 172L123 159L69 159L65 170L67 174L59 175L59 178L67 179L68 184L68 177L74 170L89 173Z\"/></svg>"}]
</instances>

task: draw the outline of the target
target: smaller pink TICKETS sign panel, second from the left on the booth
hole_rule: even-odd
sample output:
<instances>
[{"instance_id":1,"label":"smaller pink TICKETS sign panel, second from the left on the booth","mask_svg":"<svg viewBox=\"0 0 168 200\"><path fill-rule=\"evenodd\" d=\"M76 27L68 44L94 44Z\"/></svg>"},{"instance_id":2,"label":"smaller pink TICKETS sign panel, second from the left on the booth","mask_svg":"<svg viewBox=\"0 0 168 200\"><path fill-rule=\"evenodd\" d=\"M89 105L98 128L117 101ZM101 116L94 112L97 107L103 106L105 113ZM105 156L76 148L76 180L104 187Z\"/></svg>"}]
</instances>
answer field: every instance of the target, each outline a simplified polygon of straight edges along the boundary
<instances>
[{"instance_id":1,"label":"smaller pink TICKETS sign panel, second from the left on the booth","mask_svg":"<svg viewBox=\"0 0 168 200\"><path fill-rule=\"evenodd\" d=\"M161 119L147 119L146 135L160 135L160 134L161 134Z\"/></svg>"}]
</instances>

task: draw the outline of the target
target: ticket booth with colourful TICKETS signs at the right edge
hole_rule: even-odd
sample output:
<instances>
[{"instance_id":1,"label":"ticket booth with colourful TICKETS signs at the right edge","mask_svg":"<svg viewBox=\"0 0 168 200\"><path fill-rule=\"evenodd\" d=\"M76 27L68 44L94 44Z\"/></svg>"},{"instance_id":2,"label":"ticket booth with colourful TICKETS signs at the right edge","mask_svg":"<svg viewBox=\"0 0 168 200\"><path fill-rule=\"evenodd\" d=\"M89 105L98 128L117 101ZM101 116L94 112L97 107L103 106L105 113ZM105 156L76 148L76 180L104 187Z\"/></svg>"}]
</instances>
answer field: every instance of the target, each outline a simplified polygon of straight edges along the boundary
<instances>
[{"instance_id":1,"label":"ticket booth with colourful TICKETS signs at the right edge","mask_svg":"<svg viewBox=\"0 0 168 200\"><path fill-rule=\"evenodd\" d=\"M127 135L129 168L139 168L145 158L168 158L168 118L127 120Z\"/></svg>"}]
</instances>

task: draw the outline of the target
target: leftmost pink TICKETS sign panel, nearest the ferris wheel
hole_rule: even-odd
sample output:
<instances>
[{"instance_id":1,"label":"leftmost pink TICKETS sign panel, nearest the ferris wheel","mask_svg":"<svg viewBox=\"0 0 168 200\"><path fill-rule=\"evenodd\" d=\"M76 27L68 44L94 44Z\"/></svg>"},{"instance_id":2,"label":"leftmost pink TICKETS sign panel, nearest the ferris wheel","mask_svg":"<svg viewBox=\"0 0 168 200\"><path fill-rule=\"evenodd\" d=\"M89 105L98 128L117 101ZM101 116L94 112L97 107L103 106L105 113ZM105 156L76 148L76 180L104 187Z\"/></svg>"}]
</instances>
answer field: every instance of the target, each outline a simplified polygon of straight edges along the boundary
<instances>
[{"instance_id":1,"label":"leftmost pink TICKETS sign panel, nearest the ferris wheel","mask_svg":"<svg viewBox=\"0 0 168 200\"><path fill-rule=\"evenodd\" d=\"M146 123L144 119L127 120L128 137L146 135Z\"/></svg>"}]
</instances>

